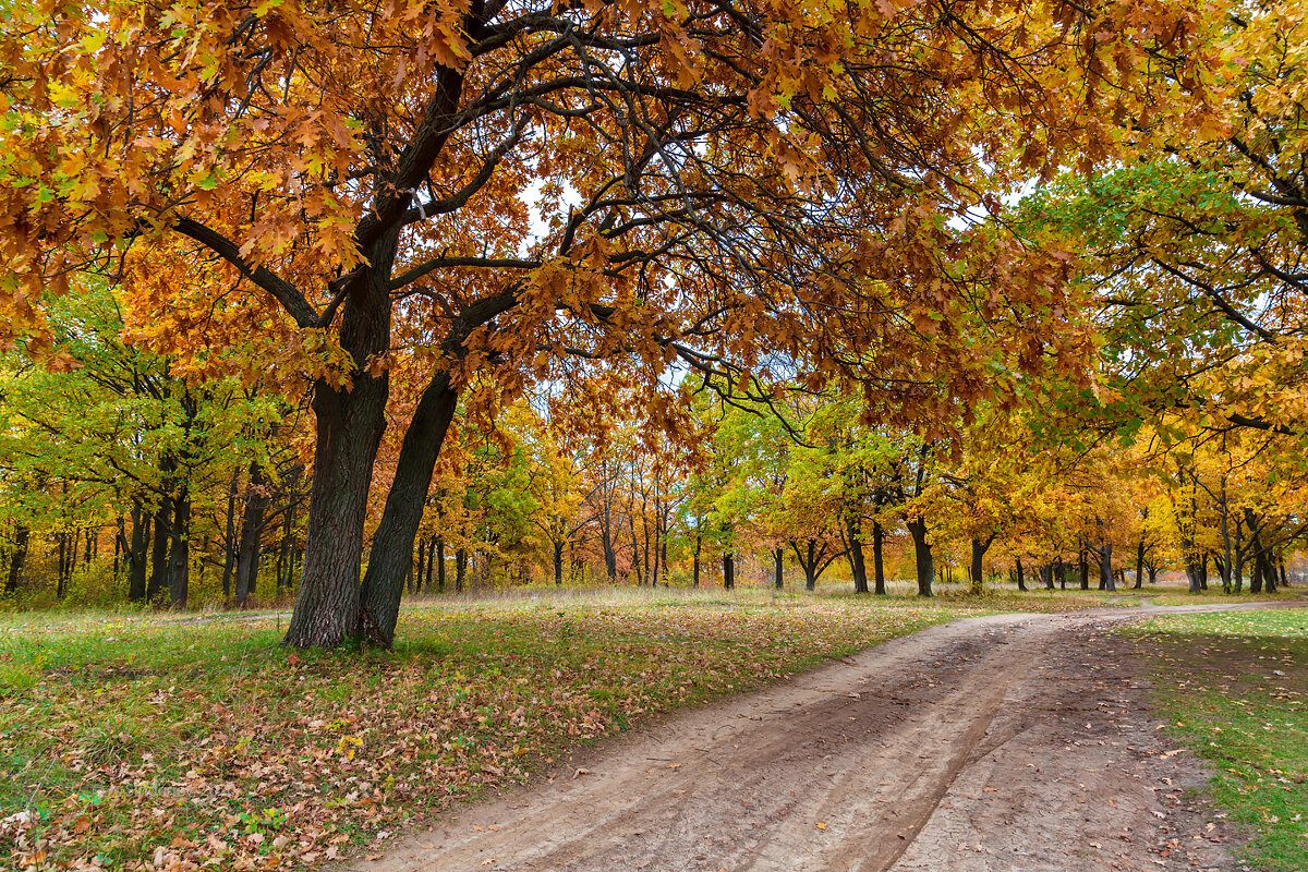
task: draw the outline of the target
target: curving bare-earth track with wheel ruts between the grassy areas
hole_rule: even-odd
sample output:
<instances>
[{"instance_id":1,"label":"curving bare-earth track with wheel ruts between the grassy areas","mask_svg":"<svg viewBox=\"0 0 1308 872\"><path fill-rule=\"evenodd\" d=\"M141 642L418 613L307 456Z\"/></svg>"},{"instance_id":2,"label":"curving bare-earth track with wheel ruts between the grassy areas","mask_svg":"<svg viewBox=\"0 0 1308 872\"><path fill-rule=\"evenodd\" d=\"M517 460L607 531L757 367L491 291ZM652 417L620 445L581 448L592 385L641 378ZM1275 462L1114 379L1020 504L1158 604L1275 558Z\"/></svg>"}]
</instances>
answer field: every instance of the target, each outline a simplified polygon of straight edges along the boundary
<instances>
[{"instance_id":1,"label":"curving bare-earth track with wheel ruts between the grassy areas","mask_svg":"<svg viewBox=\"0 0 1308 872\"><path fill-rule=\"evenodd\" d=\"M579 752L354 868L1240 869L1110 631L1216 608L935 626Z\"/></svg>"}]
</instances>

